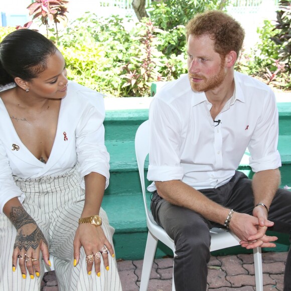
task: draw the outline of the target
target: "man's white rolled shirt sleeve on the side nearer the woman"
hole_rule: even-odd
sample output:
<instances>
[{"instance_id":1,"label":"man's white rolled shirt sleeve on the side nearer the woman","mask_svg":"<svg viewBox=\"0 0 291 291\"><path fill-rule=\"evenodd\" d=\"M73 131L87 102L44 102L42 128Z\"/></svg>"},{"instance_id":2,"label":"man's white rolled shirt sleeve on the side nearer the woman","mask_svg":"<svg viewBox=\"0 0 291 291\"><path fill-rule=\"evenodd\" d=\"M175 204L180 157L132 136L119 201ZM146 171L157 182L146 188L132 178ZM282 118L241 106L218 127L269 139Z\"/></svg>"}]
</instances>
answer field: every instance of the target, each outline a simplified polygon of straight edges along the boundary
<instances>
[{"instance_id":1,"label":"man's white rolled shirt sleeve on the side nearer the woman","mask_svg":"<svg viewBox=\"0 0 291 291\"><path fill-rule=\"evenodd\" d=\"M174 108L160 99L150 107L150 165L148 180L182 180L180 157L181 120Z\"/></svg>"}]
</instances>

